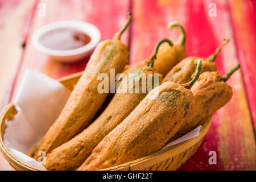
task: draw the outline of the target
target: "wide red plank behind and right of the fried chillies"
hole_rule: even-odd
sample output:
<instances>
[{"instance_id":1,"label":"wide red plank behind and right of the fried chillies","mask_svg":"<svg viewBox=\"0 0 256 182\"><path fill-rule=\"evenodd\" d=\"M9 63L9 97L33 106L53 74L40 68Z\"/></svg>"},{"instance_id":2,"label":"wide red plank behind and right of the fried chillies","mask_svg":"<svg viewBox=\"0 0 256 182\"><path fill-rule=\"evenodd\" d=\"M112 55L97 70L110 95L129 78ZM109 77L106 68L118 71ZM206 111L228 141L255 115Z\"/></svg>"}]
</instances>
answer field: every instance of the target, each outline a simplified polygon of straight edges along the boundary
<instances>
[{"instance_id":1,"label":"wide red plank behind and right of the fried chillies","mask_svg":"<svg viewBox=\"0 0 256 182\"><path fill-rule=\"evenodd\" d=\"M210 17L209 4L217 5L217 16ZM187 55L209 56L225 37L231 39L216 59L223 75L238 63L229 5L225 1L133 1L131 30L131 63L150 55L162 38L177 37L168 31L171 20L184 25L187 33ZM243 65L242 65L243 67ZM255 169L255 138L241 72L228 83L233 87L232 100L213 115L212 127L199 150L180 170ZM208 163L209 151L217 152L217 165Z\"/></svg>"}]
</instances>

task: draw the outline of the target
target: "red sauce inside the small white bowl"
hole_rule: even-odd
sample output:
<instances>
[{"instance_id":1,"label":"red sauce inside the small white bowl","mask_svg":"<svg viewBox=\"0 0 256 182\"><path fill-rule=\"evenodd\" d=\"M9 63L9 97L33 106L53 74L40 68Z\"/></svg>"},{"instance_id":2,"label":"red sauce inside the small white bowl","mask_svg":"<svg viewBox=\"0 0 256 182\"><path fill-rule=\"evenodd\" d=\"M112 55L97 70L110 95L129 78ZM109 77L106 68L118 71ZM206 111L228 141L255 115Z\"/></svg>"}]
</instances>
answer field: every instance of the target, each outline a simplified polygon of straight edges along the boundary
<instances>
[{"instance_id":1,"label":"red sauce inside the small white bowl","mask_svg":"<svg viewBox=\"0 0 256 182\"><path fill-rule=\"evenodd\" d=\"M75 28L59 28L42 35L39 42L46 48L64 51L85 46L90 36Z\"/></svg>"}]
</instances>

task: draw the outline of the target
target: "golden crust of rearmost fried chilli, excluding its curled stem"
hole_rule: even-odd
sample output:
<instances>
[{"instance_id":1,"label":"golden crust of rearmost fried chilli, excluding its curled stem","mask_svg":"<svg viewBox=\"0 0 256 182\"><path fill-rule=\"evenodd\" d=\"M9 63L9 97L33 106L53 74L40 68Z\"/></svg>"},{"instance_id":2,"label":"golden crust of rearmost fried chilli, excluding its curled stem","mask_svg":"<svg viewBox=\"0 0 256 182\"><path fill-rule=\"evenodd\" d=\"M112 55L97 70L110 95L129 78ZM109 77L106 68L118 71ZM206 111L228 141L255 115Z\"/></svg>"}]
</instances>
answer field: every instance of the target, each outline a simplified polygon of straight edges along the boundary
<instances>
[{"instance_id":1,"label":"golden crust of rearmost fried chilli, excluding its curled stem","mask_svg":"<svg viewBox=\"0 0 256 182\"><path fill-rule=\"evenodd\" d=\"M154 69L163 76L174 67L177 63L185 58L185 47L181 44L174 44L170 47L168 43L164 43L159 47L158 54L154 62Z\"/></svg>"}]
</instances>

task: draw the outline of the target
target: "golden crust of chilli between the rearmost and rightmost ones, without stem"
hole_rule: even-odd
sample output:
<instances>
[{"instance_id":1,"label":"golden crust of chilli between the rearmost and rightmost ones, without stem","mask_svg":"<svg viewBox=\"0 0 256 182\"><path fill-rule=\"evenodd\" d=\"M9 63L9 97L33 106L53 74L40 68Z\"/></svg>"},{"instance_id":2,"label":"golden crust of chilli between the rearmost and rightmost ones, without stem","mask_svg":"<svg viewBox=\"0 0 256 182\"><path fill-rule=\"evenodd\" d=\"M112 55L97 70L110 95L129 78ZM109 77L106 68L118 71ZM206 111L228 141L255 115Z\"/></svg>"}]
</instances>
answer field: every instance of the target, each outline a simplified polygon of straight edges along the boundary
<instances>
[{"instance_id":1,"label":"golden crust of chilli between the rearmost and rightmost ones, without stem","mask_svg":"<svg viewBox=\"0 0 256 182\"><path fill-rule=\"evenodd\" d=\"M180 61L171 71L164 77L163 82L172 81L177 84L185 84L191 80L192 75L196 72L196 63L197 59L202 60L202 67L200 73L203 72L214 72L216 71L216 64L205 60L200 57L187 57Z\"/></svg>"}]
</instances>

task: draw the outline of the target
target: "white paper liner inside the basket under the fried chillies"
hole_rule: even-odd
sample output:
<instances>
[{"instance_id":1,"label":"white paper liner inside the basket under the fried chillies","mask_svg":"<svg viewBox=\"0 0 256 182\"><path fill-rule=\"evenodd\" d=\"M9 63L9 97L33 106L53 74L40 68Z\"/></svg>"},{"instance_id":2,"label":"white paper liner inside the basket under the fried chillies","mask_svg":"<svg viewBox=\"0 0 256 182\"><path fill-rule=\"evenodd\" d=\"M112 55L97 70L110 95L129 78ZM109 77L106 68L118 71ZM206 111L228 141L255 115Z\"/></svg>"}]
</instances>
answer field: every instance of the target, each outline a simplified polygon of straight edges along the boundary
<instances>
[{"instance_id":1,"label":"white paper liner inside the basket under the fried chillies","mask_svg":"<svg viewBox=\"0 0 256 182\"><path fill-rule=\"evenodd\" d=\"M9 121L3 135L3 142L14 158L28 166L46 170L42 164L25 154L55 122L70 93L71 91L59 81L43 73L26 70L14 100L18 113L13 120ZM163 148L197 137L200 129L201 126Z\"/></svg>"}]
</instances>

